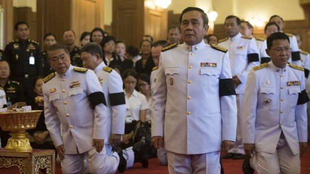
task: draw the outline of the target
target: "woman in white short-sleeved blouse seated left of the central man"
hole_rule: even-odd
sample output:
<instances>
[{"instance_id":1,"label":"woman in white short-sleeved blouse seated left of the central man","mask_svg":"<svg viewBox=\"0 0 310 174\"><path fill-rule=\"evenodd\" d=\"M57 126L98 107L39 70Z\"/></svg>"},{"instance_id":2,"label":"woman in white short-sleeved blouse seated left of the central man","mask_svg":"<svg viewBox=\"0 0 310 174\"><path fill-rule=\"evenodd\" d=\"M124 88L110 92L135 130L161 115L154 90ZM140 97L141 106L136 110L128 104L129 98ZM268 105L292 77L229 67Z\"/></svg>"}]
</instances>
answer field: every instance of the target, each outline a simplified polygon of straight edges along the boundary
<instances>
[{"instance_id":1,"label":"woman in white short-sleeved blouse seated left of the central man","mask_svg":"<svg viewBox=\"0 0 310 174\"><path fill-rule=\"evenodd\" d=\"M128 144L134 135L133 129L137 122L139 120L145 122L149 105L146 97L135 89L138 82L138 74L135 70L126 70L123 73L123 82L126 101L126 124L123 143Z\"/></svg>"}]
</instances>

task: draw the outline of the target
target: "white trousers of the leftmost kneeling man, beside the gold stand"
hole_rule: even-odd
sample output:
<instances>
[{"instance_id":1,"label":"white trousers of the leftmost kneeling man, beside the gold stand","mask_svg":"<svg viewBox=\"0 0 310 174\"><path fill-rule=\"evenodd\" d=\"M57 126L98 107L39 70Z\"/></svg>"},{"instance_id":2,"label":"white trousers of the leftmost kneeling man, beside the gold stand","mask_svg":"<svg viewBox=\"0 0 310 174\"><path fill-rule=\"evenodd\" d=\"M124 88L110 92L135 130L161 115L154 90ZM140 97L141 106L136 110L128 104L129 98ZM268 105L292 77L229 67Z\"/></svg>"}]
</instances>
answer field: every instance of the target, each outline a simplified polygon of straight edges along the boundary
<instances>
[{"instance_id":1,"label":"white trousers of the leftmost kneeling man, beside the gold stand","mask_svg":"<svg viewBox=\"0 0 310 174\"><path fill-rule=\"evenodd\" d=\"M84 163L85 158L87 165ZM64 160L61 162L63 174L83 174L88 172L90 174L115 174L118 164L119 157L117 153L114 152L111 156L107 156L105 148L100 153L96 152L94 148L82 154L65 155Z\"/></svg>"}]
</instances>

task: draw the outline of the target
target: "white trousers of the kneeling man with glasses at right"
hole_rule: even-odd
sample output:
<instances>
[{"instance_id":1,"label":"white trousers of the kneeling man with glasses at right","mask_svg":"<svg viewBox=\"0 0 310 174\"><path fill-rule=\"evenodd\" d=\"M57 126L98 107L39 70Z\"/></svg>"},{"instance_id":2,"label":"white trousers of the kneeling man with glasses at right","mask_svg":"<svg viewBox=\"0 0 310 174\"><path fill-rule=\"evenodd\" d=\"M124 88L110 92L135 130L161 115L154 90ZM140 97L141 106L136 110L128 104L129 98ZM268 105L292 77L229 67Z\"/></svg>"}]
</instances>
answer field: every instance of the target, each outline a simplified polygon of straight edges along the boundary
<instances>
[{"instance_id":1,"label":"white trousers of the kneeling man with glasses at right","mask_svg":"<svg viewBox=\"0 0 310 174\"><path fill-rule=\"evenodd\" d=\"M285 139L279 140L275 153L255 152L250 159L250 165L257 174L301 173L300 154L293 155Z\"/></svg>"}]
</instances>

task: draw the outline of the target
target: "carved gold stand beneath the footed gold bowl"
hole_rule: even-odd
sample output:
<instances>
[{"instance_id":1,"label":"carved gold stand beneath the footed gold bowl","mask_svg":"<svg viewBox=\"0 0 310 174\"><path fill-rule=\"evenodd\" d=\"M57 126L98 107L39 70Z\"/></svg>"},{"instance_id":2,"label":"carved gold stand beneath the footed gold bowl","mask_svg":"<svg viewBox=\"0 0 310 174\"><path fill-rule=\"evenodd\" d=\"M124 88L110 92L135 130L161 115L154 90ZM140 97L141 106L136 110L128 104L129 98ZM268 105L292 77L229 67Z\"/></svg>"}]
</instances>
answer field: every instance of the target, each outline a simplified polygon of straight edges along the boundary
<instances>
[{"instance_id":1,"label":"carved gold stand beneath the footed gold bowl","mask_svg":"<svg viewBox=\"0 0 310 174\"><path fill-rule=\"evenodd\" d=\"M39 174L40 169L45 169L46 174L55 174L55 151L33 149L26 152L12 152L0 148L0 173L1 168L17 166L20 174Z\"/></svg>"}]
</instances>

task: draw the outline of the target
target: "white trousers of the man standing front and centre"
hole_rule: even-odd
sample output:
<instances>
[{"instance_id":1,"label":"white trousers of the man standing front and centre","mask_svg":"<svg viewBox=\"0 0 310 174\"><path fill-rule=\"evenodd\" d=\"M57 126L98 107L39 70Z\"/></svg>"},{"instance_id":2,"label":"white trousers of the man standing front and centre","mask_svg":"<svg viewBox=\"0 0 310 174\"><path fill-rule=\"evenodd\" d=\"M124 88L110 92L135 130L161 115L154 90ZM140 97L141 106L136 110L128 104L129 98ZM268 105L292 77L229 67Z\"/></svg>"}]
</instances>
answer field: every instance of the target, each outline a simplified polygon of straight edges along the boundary
<instances>
[{"instance_id":1,"label":"white trousers of the man standing front and centre","mask_svg":"<svg viewBox=\"0 0 310 174\"><path fill-rule=\"evenodd\" d=\"M184 155L167 151L169 174L220 174L220 151Z\"/></svg>"}]
</instances>

